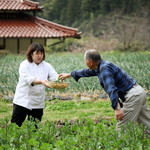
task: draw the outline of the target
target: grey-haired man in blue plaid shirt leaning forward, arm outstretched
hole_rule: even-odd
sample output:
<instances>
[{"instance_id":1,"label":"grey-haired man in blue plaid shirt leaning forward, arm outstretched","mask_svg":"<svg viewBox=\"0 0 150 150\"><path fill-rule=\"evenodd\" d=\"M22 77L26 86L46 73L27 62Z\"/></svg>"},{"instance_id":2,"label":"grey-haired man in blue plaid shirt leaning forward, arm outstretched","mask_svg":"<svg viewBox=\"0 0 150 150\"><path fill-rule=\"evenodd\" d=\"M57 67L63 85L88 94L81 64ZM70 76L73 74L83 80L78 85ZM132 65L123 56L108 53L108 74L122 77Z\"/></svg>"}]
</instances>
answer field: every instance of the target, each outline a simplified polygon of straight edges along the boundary
<instances>
[{"instance_id":1,"label":"grey-haired man in blue plaid shirt leaning forward, arm outstretched","mask_svg":"<svg viewBox=\"0 0 150 150\"><path fill-rule=\"evenodd\" d=\"M89 69L62 73L62 80L73 77L78 81L81 77L97 76L103 89L108 93L118 120L117 130L132 121L143 123L150 134L150 110L146 104L146 92L125 71L109 61L101 59L96 50L87 50L84 55Z\"/></svg>"}]
</instances>

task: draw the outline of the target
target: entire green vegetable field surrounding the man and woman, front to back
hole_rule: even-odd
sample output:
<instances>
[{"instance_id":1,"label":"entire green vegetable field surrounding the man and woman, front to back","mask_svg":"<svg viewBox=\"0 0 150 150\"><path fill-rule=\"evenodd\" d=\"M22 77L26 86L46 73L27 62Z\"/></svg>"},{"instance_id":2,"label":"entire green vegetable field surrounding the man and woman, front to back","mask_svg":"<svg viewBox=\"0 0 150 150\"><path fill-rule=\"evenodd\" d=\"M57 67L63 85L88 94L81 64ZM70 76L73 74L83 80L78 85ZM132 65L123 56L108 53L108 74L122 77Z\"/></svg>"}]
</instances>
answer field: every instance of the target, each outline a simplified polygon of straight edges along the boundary
<instances>
[{"instance_id":1,"label":"entire green vegetable field surrounding the man and woman, front to back","mask_svg":"<svg viewBox=\"0 0 150 150\"><path fill-rule=\"evenodd\" d=\"M133 76L147 91L150 90L150 52L104 52L111 61ZM64 90L46 89L58 95L74 94L72 100L46 101L42 122L35 131L34 123L25 121L21 128L10 124L12 102L3 96L13 96L18 82L18 67L25 56L0 56L0 150L149 150L150 140L142 125L129 123L116 132L114 111L110 101L96 97L101 94L98 79L82 78L79 83L66 80ZM83 53L47 54L58 73L85 68ZM81 94L92 94L89 100ZM150 104L150 97L148 97Z\"/></svg>"}]
</instances>

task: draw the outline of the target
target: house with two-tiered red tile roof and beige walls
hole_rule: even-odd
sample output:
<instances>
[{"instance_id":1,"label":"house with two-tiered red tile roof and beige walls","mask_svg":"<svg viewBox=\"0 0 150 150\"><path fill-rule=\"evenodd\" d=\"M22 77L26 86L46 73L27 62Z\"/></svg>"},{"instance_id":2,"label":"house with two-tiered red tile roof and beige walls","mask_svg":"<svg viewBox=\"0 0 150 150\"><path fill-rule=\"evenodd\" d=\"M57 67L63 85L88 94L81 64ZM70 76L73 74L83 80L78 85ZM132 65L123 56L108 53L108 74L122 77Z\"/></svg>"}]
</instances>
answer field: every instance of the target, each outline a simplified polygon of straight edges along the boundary
<instances>
[{"instance_id":1,"label":"house with two-tiered red tile roof and beige walls","mask_svg":"<svg viewBox=\"0 0 150 150\"><path fill-rule=\"evenodd\" d=\"M42 9L29 0L0 0L0 50L21 53L32 42L46 45L47 39L80 38L75 28L37 17Z\"/></svg>"}]
</instances>

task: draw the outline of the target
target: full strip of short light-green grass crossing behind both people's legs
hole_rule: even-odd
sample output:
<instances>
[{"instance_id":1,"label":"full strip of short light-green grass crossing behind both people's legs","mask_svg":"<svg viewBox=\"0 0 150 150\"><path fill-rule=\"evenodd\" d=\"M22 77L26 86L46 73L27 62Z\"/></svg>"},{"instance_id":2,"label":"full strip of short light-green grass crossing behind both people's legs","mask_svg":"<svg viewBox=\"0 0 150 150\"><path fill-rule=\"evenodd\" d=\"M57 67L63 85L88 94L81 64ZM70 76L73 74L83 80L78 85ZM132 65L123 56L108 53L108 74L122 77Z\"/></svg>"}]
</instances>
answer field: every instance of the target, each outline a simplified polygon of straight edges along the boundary
<instances>
[{"instance_id":1,"label":"full strip of short light-green grass crossing behind both people's legs","mask_svg":"<svg viewBox=\"0 0 150 150\"><path fill-rule=\"evenodd\" d=\"M148 98L150 106L150 100ZM12 102L0 99L0 119L9 119L12 114ZM109 100L52 100L46 101L42 122L64 122L65 120L114 120L114 111Z\"/></svg>"}]
</instances>

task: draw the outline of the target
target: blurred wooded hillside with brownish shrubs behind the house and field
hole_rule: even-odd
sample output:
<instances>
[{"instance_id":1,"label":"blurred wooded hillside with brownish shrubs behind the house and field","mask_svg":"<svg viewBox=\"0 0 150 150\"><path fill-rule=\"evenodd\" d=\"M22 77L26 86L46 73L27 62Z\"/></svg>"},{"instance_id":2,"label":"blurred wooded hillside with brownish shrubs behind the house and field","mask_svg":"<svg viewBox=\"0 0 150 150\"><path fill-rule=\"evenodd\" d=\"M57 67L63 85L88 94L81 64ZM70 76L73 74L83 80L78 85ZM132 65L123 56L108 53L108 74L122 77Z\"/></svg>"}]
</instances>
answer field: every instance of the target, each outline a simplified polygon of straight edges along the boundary
<instances>
[{"instance_id":1,"label":"blurred wooded hillside with brownish shrubs behind the house and field","mask_svg":"<svg viewBox=\"0 0 150 150\"><path fill-rule=\"evenodd\" d=\"M34 1L44 6L37 16L82 32L81 40L68 40L54 51L150 50L150 0Z\"/></svg>"}]
</instances>

